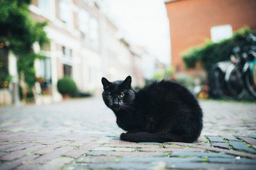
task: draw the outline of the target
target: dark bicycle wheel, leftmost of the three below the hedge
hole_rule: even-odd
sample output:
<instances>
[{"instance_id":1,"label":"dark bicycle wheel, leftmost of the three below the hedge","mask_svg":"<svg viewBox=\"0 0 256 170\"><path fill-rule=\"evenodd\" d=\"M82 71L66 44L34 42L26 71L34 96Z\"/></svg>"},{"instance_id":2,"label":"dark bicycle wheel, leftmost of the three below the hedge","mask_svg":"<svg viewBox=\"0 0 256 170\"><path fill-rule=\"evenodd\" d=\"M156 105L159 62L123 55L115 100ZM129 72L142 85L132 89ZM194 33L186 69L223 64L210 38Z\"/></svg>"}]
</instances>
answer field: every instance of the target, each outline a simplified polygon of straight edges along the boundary
<instances>
[{"instance_id":1,"label":"dark bicycle wheel, leftmost of the three below the hedge","mask_svg":"<svg viewBox=\"0 0 256 170\"><path fill-rule=\"evenodd\" d=\"M225 73L220 68L214 69L214 84L215 92L218 97L223 99L231 99L230 93L227 89L227 83L225 81Z\"/></svg>"}]
</instances>

